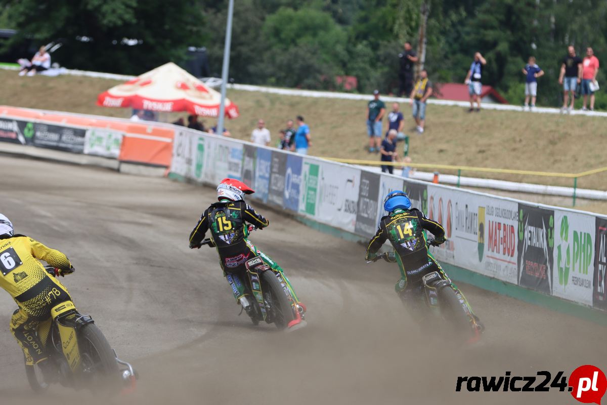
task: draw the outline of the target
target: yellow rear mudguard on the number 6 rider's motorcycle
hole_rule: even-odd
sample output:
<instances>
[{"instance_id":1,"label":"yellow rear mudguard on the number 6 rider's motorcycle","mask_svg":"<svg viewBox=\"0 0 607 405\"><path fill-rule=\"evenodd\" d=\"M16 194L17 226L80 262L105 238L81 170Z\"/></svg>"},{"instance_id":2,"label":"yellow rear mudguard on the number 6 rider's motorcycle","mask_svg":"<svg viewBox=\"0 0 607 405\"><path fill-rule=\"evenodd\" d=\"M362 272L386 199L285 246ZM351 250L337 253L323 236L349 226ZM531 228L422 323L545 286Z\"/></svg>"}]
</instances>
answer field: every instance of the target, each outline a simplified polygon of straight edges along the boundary
<instances>
[{"instance_id":1,"label":"yellow rear mudguard on the number 6 rider's motorcycle","mask_svg":"<svg viewBox=\"0 0 607 405\"><path fill-rule=\"evenodd\" d=\"M78 347L78 331L86 324L93 323L88 315L80 315L72 301L62 302L52 308L53 321L59 330L61 349L72 372L80 367L81 355Z\"/></svg>"}]
</instances>

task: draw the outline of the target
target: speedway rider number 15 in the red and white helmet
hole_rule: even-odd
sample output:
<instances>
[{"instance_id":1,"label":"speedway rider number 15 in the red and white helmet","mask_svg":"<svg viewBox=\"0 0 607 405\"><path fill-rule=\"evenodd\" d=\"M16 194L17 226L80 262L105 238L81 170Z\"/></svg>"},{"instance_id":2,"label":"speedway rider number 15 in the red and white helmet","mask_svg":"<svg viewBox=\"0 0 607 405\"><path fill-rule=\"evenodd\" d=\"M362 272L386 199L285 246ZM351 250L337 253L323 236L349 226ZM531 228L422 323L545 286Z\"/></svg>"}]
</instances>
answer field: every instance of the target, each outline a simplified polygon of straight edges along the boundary
<instances>
[{"instance_id":1,"label":"speedway rider number 15 in the red and white helmet","mask_svg":"<svg viewBox=\"0 0 607 405\"><path fill-rule=\"evenodd\" d=\"M246 291L242 276L246 271L245 262L247 260L260 256L267 265L283 273L282 268L274 260L246 239L248 236L247 223L259 229L269 225L268 220L257 214L253 207L244 200L245 195L253 194L253 192L239 180L223 179L217 186L219 201L212 203L205 210L189 239L190 248L199 248L200 243L205 239L206 231L211 231L211 240L217 248L220 264L232 287L234 297L237 301L245 297L241 303L248 302L246 296L250 293L250 291ZM297 300L287 277L285 276L284 279L288 283L291 294ZM243 305L243 307L248 311L247 305Z\"/></svg>"}]
</instances>

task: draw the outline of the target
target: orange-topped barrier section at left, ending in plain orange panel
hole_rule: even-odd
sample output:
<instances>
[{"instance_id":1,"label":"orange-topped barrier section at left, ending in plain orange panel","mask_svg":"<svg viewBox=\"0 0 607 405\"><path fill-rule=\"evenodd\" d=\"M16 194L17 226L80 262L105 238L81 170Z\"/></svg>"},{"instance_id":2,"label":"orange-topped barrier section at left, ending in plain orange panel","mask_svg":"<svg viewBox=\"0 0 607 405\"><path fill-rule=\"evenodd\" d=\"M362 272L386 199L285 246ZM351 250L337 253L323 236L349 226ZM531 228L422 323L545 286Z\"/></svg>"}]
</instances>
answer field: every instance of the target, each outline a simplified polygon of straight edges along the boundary
<instances>
[{"instance_id":1,"label":"orange-topped barrier section at left, ending in plain orange panel","mask_svg":"<svg viewBox=\"0 0 607 405\"><path fill-rule=\"evenodd\" d=\"M167 124L0 106L0 141L120 162L168 168L174 134Z\"/></svg>"}]
</instances>

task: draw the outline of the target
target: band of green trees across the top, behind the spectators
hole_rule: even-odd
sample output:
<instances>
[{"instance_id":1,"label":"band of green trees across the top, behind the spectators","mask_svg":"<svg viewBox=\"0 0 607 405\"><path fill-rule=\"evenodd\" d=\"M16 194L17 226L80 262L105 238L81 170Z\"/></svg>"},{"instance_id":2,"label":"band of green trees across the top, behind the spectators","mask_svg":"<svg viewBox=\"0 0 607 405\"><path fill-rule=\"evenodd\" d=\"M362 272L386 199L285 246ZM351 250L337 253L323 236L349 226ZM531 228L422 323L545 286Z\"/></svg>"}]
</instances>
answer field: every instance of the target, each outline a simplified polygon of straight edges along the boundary
<instances>
[{"instance_id":1,"label":"band of green trees across the top, behind the spectators","mask_svg":"<svg viewBox=\"0 0 607 405\"><path fill-rule=\"evenodd\" d=\"M394 92L402 43L418 44L420 8L429 5L426 69L435 82L461 83L473 53L487 60L483 83L522 103L529 55L546 75L538 105L558 106L568 44L607 55L603 0L238 0L230 76L239 83L335 89L336 75L358 91ZM0 0L0 26L15 41L64 43L53 60L67 67L141 73L181 61L186 46L206 46L213 75L222 67L227 0ZM93 41L82 43L76 37ZM29 38L29 39L28 39ZM138 46L121 44L139 39ZM24 55L30 56L30 55ZM605 80L599 71L599 82ZM605 83L607 88L607 83ZM597 108L604 108L603 90Z\"/></svg>"}]
</instances>

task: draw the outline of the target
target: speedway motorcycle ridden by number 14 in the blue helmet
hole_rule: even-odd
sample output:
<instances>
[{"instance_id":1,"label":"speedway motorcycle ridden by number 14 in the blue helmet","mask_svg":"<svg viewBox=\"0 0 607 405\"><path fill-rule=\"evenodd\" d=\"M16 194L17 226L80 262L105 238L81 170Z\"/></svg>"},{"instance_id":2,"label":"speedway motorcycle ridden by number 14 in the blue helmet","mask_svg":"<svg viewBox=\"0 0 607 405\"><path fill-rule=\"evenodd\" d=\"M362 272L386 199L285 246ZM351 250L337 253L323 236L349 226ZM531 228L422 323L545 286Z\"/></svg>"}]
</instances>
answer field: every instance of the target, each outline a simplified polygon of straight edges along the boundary
<instances>
[{"instance_id":1,"label":"speedway motorcycle ridden by number 14 in the blue helmet","mask_svg":"<svg viewBox=\"0 0 607 405\"><path fill-rule=\"evenodd\" d=\"M428 239L428 247L438 246L434 239ZM376 262L384 259L388 262L390 253L382 253L367 263ZM445 276L446 277L446 276ZM463 341L472 343L480 339L482 326L477 322L477 318L470 313L469 307L461 293L450 288L451 280L449 277L443 278L438 271L433 271L424 275L421 282L413 286L413 299L418 300L419 305L415 305L413 310L422 312L424 322L430 325L447 324L452 333Z\"/></svg>"}]
</instances>

